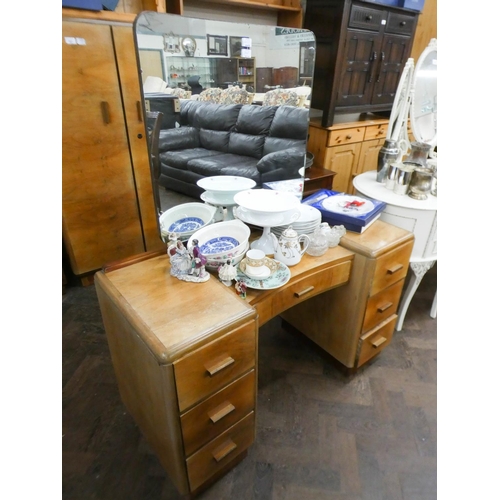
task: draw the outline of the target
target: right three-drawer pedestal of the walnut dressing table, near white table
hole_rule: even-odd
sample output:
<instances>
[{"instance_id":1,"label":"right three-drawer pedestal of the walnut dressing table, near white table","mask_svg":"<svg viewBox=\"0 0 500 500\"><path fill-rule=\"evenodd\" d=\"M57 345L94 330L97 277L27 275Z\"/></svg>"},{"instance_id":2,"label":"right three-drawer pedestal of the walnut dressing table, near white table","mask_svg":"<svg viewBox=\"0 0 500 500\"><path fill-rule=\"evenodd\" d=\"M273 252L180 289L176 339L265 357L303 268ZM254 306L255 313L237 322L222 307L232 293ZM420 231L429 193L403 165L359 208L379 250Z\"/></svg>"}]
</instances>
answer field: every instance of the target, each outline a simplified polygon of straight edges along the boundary
<instances>
[{"instance_id":1,"label":"right three-drawer pedestal of the walnut dressing table, near white table","mask_svg":"<svg viewBox=\"0 0 500 500\"><path fill-rule=\"evenodd\" d=\"M341 245L356 253L349 283L296 305L283 319L346 367L359 368L392 339L413 241L381 221L362 234L348 232Z\"/></svg>"}]
</instances>

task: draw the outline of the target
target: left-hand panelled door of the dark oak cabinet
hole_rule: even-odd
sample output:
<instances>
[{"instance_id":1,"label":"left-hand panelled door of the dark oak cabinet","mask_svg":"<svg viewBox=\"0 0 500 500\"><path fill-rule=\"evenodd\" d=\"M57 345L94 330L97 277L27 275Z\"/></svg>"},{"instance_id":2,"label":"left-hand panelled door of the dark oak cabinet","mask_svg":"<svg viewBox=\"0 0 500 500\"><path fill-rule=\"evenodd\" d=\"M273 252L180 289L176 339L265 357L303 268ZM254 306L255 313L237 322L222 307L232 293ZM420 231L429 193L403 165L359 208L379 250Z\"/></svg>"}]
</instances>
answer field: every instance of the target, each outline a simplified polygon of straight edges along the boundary
<instances>
[{"instance_id":1,"label":"left-hand panelled door of the dark oak cabinet","mask_svg":"<svg viewBox=\"0 0 500 500\"><path fill-rule=\"evenodd\" d=\"M359 106L370 103L371 84L378 67L378 47L376 33L348 30L338 106Z\"/></svg>"}]
</instances>

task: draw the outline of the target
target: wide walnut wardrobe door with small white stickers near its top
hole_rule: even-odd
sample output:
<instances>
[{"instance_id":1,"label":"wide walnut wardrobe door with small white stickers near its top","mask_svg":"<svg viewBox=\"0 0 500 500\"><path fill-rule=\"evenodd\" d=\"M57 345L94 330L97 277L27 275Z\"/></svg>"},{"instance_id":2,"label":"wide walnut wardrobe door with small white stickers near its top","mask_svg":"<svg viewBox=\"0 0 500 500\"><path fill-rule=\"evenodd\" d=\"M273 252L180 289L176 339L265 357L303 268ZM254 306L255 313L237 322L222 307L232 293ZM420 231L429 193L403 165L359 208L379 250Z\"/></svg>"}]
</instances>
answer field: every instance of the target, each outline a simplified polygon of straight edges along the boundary
<instances>
[{"instance_id":1,"label":"wide walnut wardrobe door with small white stickers near its top","mask_svg":"<svg viewBox=\"0 0 500 500\"><path fill-rule=\"evenodd\" d=\"M145 250L111 28L62 26L63 239L76 275Z\"/></svg>"}]
</instances>

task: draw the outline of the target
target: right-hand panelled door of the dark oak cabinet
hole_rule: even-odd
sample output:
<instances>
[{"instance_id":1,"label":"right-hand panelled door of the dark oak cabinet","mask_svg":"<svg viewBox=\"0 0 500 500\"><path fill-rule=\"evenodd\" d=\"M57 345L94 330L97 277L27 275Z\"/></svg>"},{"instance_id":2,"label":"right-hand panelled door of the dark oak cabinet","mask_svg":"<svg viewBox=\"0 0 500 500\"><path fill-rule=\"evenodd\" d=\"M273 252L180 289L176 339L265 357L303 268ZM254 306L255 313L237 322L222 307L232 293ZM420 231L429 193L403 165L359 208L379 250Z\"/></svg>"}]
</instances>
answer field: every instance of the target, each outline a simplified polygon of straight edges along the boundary
<instances>
[{"instance_id":1,"label":"right-hand panelled door of the dark oak cabinet","mask_svg":"<svg viewBox=\"0 0 500 500\"><path fill-rule=\"evenodd\" d=\"M380 51L380 65L374 79L372 104L394 102L401 73L410 56L411 39L385 35Z\"/></svg>"}]
</instances>

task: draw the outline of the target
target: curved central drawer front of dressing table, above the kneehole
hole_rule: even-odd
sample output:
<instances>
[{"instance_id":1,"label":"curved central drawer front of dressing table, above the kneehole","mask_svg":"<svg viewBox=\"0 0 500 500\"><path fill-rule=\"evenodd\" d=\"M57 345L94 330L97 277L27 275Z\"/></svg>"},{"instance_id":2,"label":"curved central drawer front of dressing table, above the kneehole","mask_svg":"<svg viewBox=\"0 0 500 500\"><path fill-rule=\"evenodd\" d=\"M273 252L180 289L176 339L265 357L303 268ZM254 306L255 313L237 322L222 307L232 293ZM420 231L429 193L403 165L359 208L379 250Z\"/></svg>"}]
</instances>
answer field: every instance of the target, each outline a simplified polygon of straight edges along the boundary
<instances>
[{"instance_id":1,"label":"curved central drawer front of dressing table, above the kneehole","mask_svg":"<svg viewBox=\"0 0 500 500\"><path fill-rule=\"evenodd\" d=\"M347 283L349 280L349 275L351 271L351 261L342 262L329 269L324 269L318 271L304 279L285 285L276 292L273 298L273 307L271 312L271 317L277 316L278 314L286 311L290 307L303 302L319 293L333 288L334 286ZM262 312L263 315L266 312ZM259 311L259 318L261 311ZM265 318L267 321L270 318ZM263 319L259 320L261 324L265 321Z\"/></svg>"}]
</instances>

